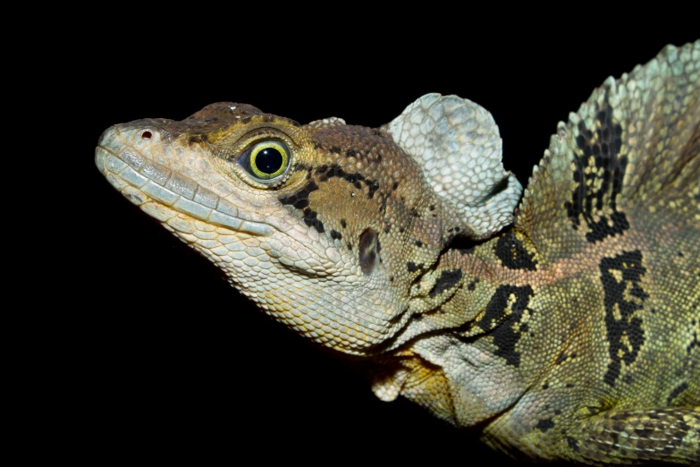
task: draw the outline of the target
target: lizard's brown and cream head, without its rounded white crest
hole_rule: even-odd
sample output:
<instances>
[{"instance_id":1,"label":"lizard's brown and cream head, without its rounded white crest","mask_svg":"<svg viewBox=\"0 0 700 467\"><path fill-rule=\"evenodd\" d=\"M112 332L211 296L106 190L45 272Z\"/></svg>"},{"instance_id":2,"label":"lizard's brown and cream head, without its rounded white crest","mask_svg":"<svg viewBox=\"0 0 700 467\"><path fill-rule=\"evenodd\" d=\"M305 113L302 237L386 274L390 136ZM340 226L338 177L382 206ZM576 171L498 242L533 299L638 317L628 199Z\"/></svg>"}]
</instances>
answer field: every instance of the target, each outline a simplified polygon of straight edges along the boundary
<instances>
[{"instance_id":1,"label":"lizard's brown and cream head, without its rounded white crest","mask_svg":"<svg viewBox=\"0 0 700 467\"><path fill-rule=\"evenodd\" d=\"M448 177L436 187L416 157L410 129L401 117L377 130L337 118L300 125L218 103L181 122L114 125L96 163L259 308L317 343L361 355L406 326L418 279L454 236L485 236L510 220L512 206L487 226L469 221L466 204L441 194ZM498 187L488 200L507 191Z\"/></svg>"}]
</instances>

